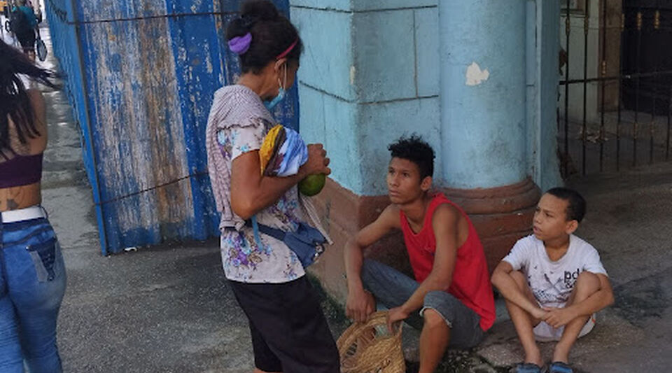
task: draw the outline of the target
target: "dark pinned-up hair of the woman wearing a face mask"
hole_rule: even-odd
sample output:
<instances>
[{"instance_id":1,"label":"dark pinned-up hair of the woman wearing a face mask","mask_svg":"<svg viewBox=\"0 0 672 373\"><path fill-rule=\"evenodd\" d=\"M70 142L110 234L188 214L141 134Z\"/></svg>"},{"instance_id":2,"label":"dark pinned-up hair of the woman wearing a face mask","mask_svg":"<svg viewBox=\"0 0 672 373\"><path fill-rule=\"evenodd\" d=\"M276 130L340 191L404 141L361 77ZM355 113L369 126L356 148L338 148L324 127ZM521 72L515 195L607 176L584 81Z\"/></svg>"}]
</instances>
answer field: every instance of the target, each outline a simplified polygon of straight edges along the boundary
<instances>
[{"instance_id":1,"label":"dark pinned-up hair of the woman wearing a face mask","mask_svg":"<svg viewBox=\"0 0 672 373\"><path fill-rule=\"evenodd\" d=\"M229 22L226 39L230 41L247 33L252 35L252 43L247 52L240 55L243 73L259 73L269 62L287 50L294 42L294 48L286 58L299 61L303 43L296 27L282 15L268 0L247 0L240 8L240 17Z\"/></svg>"}]
</instances>

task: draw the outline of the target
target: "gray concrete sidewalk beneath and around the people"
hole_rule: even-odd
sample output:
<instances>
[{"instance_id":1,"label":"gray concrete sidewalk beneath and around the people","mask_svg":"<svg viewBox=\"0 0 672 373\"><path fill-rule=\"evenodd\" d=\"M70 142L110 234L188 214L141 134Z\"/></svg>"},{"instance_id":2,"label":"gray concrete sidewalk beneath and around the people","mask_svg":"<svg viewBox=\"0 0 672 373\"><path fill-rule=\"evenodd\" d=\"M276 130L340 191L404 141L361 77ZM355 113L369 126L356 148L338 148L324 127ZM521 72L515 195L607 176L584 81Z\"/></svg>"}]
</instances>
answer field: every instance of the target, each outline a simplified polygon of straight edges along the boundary
<instances>
[{"instance_id":1,"label":"gray concrete sidewalk beneath and around the people","mask_svg":"<svg viewBox=\"0 0 672 373\"><path fill-rule=\"evenodd\" d=\"M58 330L65 371L251 372L246 319L226 286L218 241L102 257L77 125L63 92L44 94L50 135L44 205L69 276ZM672 164L570 184L589 202L578 234L600 251L617 297L615 306L598 316L594 331L577 343L573 363L590 373L668 372ZM346 327L342 312L323 304L332 332L339 335ZM476 351L451 352L444 371L505 372L522 359L501 301L498 314L484 344ZM406 334L412 350L416 335ZM547 358L551 348L544 346Z\"/></svg>"}]
</instances>

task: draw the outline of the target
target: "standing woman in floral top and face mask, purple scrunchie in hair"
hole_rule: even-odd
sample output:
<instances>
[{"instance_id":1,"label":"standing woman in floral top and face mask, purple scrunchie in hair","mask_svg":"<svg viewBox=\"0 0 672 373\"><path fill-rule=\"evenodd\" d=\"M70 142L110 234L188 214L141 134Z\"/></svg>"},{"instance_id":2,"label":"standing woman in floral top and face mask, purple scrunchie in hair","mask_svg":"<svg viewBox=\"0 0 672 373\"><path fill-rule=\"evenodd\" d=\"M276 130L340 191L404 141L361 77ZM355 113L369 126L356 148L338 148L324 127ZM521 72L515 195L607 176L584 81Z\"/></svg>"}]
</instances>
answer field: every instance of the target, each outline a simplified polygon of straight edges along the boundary
<instances>
[{"instance_id":1,"label":"standing woman in floral top and face mask, purple scrunchie in hair","mask_svg":"<svg viewBox=\"0 0 672 373\"><path fill-rule=\"evenodd\" d=\"M282 241L260 234L245 221L293 231L300 222L318 230L314 210L297 192L311 174L329 174L321 144L308 146L297 174L260 173L259 149L275 121L269 110L293 85L302 42L297 30L269 1L246 1L228 25L229 48L242 75L214 95L207 126L212 189L221 212L225 275L248 317L255 372L339 372L335 342L304 268ZM323 233L324 234L324 233Z\"/></svg>"}]
</instances>

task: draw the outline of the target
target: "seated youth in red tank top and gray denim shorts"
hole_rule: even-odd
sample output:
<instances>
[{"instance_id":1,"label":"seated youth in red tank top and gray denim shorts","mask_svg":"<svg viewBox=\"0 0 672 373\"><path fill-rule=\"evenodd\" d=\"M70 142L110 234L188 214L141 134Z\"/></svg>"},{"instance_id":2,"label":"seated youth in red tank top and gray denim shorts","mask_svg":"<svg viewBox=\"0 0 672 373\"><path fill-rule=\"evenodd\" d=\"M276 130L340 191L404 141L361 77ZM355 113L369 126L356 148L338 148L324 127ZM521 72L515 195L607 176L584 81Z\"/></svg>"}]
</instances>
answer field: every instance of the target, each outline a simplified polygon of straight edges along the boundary
<instances>
[{"instance_id":1,"label":"seated youth in red tank top and gray denim shorts","mask_svg":"<svg viewBox=\"0 0 672 373\"><path fill-rule=\"evenodd\" d=\"M481 342L495 320L483 246L462 209L430 192L434 150L418 136L391 144L387 187L392 202L344 248L346 314L365 321L384 304L388 328L399 321L421 329L420 373L433 372L447 347ZM415 279L373 260L363 249L391 230L404 234Z\"/></svg>"}]
</instances>

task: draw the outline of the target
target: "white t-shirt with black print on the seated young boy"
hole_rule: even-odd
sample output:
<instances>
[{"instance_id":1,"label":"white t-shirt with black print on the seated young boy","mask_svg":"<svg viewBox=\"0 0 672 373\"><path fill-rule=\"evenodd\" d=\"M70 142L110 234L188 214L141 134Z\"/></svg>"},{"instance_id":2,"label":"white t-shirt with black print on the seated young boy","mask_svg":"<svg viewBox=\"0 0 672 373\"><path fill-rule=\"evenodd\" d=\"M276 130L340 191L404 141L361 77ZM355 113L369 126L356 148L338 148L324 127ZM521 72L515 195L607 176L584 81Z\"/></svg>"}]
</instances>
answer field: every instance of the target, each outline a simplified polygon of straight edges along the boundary
<instances>
[{"instance_id":1,"label":"white t-shirt with black print on the seated young boy","mask_svg":"<svg viewBox=\"0 0 672 373\"><path fill-rule=\"evenodd\" d=\"M544 242L534 234L519 239L503 260L525 274L542 307L564 307L581 272L607 275L597 250L573 234L567 252L556 262L548 258Z\"/></svg>"}]
</instances>

